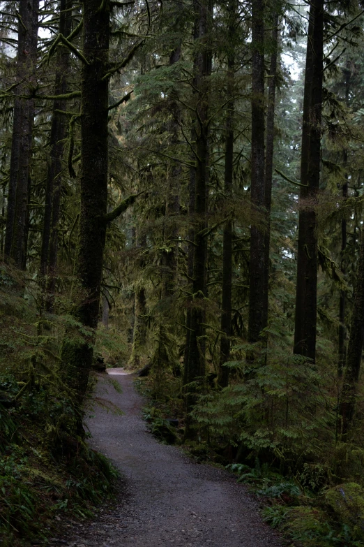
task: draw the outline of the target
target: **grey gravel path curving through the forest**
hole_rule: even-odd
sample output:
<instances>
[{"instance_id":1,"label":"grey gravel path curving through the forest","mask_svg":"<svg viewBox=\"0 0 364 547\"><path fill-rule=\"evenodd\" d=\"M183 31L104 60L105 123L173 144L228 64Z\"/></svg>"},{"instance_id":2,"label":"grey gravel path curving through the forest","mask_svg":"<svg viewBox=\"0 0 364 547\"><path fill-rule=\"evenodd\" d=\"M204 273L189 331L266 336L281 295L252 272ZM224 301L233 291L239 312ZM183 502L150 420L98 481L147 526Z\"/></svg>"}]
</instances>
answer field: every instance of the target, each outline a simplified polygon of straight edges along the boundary
<instances>
[{"instance_id":1,"label":"grey gravel path curving through the forest","mask_svg":"<svg viewBox=\"0 0 364 547\"><path fill-rule=\"evenodd\" d=\"M179 448L160 444L140 418L143 404L132 376L106 379L98 397L116 404L119 416L96 407L89 419L92 444L107 455L125 477L128 494L91 524L75 526L77 547L280 547L278 535L259 517L257 504L234 476L199 465ZM77 529L77 532L75 531Z\"/></svg>"}]
</instances>

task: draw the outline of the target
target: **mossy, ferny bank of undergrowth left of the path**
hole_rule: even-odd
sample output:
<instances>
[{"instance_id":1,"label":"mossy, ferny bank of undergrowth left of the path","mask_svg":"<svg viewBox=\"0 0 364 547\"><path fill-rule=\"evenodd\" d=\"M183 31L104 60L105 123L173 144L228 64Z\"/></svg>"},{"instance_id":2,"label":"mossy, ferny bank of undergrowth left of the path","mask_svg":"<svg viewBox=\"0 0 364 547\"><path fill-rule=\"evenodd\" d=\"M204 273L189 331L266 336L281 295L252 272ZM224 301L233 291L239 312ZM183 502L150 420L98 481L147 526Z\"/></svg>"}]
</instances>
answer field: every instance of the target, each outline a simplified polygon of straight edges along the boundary
<instances>
[{"instance_id":1,"label":"mossy, ferny bank of undergrowth left of the path","mask_svg":"<svg viewBox=\"0 0 364 547\"><path fill-rule=\"evenodd\" d=\"M84 329L38 313L32 286L0 268L0 544L47 544L65 516L91 517L113 493L116 470L87 443L59 358ZM90 382L92 386L93 381Z\"/></svg>"}]
</instances>

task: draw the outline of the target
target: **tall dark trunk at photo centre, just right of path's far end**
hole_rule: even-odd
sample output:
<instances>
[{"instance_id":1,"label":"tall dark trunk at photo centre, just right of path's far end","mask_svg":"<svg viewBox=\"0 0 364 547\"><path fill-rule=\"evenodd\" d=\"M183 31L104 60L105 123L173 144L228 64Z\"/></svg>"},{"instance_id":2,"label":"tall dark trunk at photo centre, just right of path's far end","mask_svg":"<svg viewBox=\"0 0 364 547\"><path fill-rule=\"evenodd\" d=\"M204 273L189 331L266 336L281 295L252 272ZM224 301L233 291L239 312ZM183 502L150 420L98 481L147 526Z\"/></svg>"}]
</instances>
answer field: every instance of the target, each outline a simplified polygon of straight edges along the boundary
<instances>
[{"instance_id":1,"label":"tall dark trunk at photo centre, just right of path's far end","mask_svg":"<svg viewBox=\"0 0 364 547\"><path fill-rule=\"evenodd\" d=\"M206 205L208 177L208 75L211 74L211 51L208 47L208 24L211 17L211 0L194 2L198 50L195 56L195 82L197 90L197 119L195 120L195 240L193 249L192 301L190 302L190 330L185 363L185 381L189 384L205 374L203 340L204 298L206 296ZM190 390L191 391L191 390ZM187 398L187 411L195 397ZM187 428L188 429L188 428ZM188 432L187 432L188 435Z\"/></svg>"}]
</instances>

